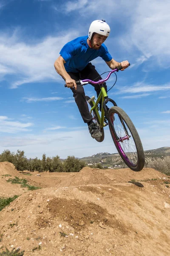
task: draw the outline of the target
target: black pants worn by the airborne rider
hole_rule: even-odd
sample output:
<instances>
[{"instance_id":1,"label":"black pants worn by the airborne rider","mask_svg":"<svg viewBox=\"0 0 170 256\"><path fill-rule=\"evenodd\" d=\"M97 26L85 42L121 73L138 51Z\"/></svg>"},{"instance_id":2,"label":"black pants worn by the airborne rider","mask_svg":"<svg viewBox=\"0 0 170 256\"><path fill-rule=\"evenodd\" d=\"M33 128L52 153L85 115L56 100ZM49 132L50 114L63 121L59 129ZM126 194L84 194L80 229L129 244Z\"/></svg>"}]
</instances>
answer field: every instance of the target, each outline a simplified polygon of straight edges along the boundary
<instances>
[{"instance_id":1,"label":"black pants worn by the airborne rider","mask_svg":"<svg viewBox=\"0 0 170 256\"><path fill-rule=\"evenodd\" d=\"M91 62L79 73L73 73L68 72L68 74L71 76L72 79L75 81L81 79L90 79L93 81L98 81L99 79L102 79L102 77L99 75L99 73L96 71L95 66L91 64ZM94 89L97 93L97 97L100 93L100 86L99 84L91 84L94 86ZM107 92L107 86L106 83L104 83L105 90ZM75 88L70 88L73 92L73 97L75 99L75 102L77 104L77 107L79 108L79 112L82 116L82 119L85 123L88 123L92 120L91 113L88 109L88 103L85 99L85 91L83 86L77 86L77 90Z\"/></svg>"}]
</instances>

